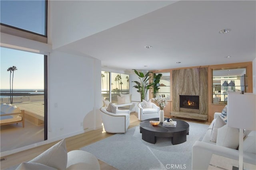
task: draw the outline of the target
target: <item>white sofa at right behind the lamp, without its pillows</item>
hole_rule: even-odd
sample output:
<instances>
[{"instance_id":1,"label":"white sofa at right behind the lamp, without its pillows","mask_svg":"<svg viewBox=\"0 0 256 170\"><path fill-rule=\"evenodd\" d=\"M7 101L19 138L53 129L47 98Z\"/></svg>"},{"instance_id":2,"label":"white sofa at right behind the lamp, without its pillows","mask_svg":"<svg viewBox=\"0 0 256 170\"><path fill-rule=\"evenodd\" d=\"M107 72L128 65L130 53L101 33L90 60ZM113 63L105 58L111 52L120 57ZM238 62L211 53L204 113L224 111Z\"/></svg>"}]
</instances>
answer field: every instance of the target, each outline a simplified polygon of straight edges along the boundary
<instances>
[{"instance_id":1,"label":"white sofa at right behind the lamp, without its pillows","mask_svg":"<svg viewBox=\"0 0 256 170\"><path fill-rule=\"evenodd\" d=\"M221 113L214 113L214 120L211 125L208 127L208 131L204 135L202 141L196 141L192 147L192 170L206 170L208 169L212 154L216 154L219 156L224 156L227 158L239 159L239 150L231 149L228 147L223 147L216 145L216 143L211 142L211 132L214 122L217 117L220 116ZM256 164L256 154L251 153L255 152L255 131L249 132L244 138L244 162L250 164ZM254 144L253 144L254 143ZM250 150L250 152L246 152L246 145L254 145L254 150Z\"/></svg>"}]
</instances>

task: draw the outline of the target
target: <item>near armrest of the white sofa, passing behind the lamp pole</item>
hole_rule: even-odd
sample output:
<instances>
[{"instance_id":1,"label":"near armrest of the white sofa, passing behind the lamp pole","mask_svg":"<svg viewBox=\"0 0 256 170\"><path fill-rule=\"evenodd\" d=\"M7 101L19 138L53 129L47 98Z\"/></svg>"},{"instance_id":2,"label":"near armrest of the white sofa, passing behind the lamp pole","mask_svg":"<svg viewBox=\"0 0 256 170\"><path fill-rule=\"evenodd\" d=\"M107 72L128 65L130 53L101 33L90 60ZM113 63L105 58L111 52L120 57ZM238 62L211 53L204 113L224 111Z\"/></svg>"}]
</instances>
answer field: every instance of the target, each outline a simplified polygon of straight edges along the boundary
<instances>
[{"instance_id":1,"label":"near armrest of the white sofa, passing behind the lamp pole","mask_svg":"<svg viewBox=\"0 0 256 170\"><path fill-rule=\"evenodd\" d=\"M208 169L212 154L239 159L239 150L196 141L192 147L192 170ZM256 154L244 152L244 162L255 164Z\"/></svg>"}]
</instances>

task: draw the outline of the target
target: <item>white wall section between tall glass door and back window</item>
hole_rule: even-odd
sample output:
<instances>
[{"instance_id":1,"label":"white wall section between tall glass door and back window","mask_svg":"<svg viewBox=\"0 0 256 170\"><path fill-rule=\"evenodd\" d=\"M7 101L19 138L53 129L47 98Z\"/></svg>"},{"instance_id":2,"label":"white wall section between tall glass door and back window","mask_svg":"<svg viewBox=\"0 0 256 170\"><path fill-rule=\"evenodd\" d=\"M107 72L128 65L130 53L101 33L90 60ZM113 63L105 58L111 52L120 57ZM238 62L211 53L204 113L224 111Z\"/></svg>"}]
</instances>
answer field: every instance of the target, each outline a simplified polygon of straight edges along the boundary
<instances>
[{"instance_id":1,"label":"white wall section between tall glass door and back window","mask_svg":"<svg viewBox=\"0 0 256 170\"><path fill-rule=\"evenodd\" d=\"M95 121L100 119L95 117L100 108L100 61L53 51L48 70L48 139L101 127Z\"/></svg>"}]
</instances>

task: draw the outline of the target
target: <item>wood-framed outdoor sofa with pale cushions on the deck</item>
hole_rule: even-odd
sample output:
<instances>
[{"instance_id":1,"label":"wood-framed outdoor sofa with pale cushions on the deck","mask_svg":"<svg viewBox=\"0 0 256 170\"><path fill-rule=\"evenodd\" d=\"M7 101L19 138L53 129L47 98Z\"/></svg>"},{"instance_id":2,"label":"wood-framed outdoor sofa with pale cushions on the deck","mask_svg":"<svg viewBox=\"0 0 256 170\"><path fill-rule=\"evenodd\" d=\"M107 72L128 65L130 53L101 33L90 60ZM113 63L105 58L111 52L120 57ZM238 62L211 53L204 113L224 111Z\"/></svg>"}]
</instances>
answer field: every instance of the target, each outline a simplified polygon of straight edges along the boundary
<instances>
[{"instance_id":1,"label":"wood-framed outdoor sofa with pale cushions on the deck","mask_svg":"<svg viewBox=\"0 0 256 170\"><path fill-rule=\"evenodd\" d=\"M24 110L11 104L1 104L0 125L22 123L25 126Z\"/></svg>"}]
</instances>

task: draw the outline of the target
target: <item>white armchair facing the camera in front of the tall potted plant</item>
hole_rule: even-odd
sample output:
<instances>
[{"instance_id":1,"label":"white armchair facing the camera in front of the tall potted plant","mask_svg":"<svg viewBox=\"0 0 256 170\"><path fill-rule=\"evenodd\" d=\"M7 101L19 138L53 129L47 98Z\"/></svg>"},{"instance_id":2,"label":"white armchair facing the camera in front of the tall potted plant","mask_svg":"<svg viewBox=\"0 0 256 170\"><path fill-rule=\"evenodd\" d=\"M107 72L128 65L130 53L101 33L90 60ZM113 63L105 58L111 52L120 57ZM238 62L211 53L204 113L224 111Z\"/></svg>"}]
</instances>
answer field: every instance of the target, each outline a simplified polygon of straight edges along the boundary
<instances>
[{"instance_id":1,"label":"white armchair facing the camera in front of the tall potted plant","mask_svg":"<svg viewBox=\"0 0 256 170\"><path fill-rule=\"evenodd\" d=\"M151 103L152 108L143 108L144 104L143 102L140 102L138 104L138 119L140 121L151 119L151 118L157 118L159 117L159 110L160 107L156 106L156 104Z\"/></svg>"}]
</instances>

